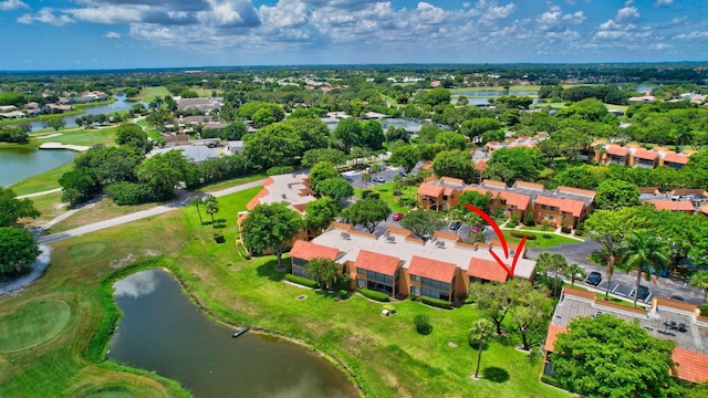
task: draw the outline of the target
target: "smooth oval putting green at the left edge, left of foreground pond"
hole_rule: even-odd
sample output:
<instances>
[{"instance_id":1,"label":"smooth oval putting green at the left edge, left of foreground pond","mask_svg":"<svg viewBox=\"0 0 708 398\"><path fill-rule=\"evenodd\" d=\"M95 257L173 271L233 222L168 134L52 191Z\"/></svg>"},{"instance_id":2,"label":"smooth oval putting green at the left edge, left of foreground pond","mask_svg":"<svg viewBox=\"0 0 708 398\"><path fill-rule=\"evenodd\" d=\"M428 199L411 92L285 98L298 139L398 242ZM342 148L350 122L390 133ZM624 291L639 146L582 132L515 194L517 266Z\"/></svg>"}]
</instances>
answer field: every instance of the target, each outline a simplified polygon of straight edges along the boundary
<instances>
[{"instance_id":1,"label":"smooth oval putting green at the left edge, left of foreground pond","mask_svg":"<svg viewBox=\"0 0 708 398\"><path fill-rule=\"evenodd\" d=\"M27 349L56 336L71 317L59 300L29 302L0 318L0 353Z\"/></svg>"}]
</instances>

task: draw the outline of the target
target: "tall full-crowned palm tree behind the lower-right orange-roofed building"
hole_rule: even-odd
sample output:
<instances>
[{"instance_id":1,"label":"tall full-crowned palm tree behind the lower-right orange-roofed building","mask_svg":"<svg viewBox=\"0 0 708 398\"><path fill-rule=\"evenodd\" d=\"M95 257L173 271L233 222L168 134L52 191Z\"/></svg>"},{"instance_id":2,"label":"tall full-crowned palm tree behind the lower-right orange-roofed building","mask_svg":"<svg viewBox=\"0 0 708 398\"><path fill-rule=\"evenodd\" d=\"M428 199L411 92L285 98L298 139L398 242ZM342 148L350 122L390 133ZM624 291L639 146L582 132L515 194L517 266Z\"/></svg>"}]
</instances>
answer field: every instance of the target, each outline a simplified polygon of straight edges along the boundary
<instances>
[{"instance_id":1,"label":"tall full-crowned palm tree behind the lower-right orange-roofed building","mask_svg":"<svg viewBox=\"0 0 708 398\"><path fill-rule=\"evenodd\" d=\"M634 287L634 306L637 306L642 269L646 266L646 277L652 279L652 270L663 270L669 263L666 243L646 231L632 231L621 245L622 268L637 271L637 284Z\"/></svg>"}]
</instances>

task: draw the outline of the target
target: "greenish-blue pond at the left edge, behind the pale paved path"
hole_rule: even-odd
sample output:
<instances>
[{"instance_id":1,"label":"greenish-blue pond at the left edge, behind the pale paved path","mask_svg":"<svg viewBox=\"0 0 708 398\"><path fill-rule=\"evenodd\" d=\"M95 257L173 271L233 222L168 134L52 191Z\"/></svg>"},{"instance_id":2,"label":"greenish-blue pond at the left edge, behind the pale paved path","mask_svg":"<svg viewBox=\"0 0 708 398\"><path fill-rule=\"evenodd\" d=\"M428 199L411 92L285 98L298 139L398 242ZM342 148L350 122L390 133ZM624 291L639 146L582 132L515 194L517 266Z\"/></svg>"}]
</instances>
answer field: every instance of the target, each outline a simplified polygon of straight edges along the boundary
<instances>
[{"instance_id":1,"label":"greenish-blue pond at the left edge, behind the pale paved path","mask_svg":"<svg viewBox=\"0 0 708 398\"><path fill-rule=\"evenodd\" d=\"M0 186L8 187L25 178L67 165L76 155L73 150L0 148Z\"/></svg>"}]
</instances>

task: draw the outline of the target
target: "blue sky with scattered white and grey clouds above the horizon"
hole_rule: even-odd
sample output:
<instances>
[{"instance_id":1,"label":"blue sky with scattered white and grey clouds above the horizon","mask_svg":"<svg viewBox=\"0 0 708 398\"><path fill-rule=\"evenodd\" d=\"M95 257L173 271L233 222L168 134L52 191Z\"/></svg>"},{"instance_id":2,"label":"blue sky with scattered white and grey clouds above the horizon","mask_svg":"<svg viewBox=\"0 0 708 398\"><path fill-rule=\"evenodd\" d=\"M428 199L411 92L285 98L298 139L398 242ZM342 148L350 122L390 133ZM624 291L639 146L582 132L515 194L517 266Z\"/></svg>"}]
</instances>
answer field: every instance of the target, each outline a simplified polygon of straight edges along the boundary
<instances>
[{"instance_id":1,"label":"blue sky with scattered white and grey clouds above the horizon","mask_svg":"<svg viewBox=\"0 0 708 398\"><path fill-rule=\"evenodd\" d=\"M708 0L0 0L0 70L708 61Z\"/></svg>"}]
</instances>

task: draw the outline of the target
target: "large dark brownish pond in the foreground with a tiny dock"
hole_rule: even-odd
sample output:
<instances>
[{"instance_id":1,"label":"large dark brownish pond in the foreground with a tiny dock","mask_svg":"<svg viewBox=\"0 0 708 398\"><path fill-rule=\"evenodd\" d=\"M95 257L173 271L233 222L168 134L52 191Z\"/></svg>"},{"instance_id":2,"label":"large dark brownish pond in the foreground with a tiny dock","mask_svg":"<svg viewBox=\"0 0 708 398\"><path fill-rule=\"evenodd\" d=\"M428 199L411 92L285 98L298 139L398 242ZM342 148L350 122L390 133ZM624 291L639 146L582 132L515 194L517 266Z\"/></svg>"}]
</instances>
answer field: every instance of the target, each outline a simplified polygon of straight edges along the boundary
<instances>
[{"instance_id":1,"label":"large dark brownish pond in the foreground with a tiny dock","mask_svg":"<svg viewBox=\"0 0 708 398\"><path fill-rule=\"evenodd\" d=\"M114 284L124 316L108 357L178 380L195 397L357 397L342 371L294 343L209 318L166 271Z\"/></svg>"}]
</instances>

